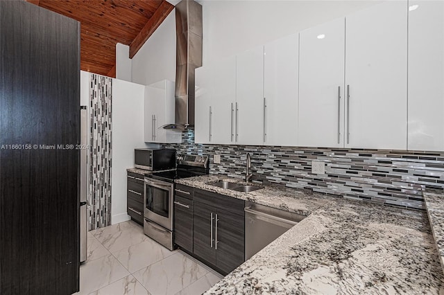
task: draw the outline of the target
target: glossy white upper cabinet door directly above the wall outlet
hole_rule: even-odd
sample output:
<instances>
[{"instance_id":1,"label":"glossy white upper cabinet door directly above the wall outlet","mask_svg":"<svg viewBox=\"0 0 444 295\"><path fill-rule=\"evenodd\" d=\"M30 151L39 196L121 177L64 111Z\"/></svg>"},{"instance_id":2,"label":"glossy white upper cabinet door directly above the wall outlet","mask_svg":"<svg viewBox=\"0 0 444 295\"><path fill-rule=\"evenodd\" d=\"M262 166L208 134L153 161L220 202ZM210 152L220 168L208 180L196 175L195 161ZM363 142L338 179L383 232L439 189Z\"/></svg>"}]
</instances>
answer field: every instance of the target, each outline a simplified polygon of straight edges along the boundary
<instances>
[{"instance_id":1,"label":"glossy white upper cabinet door directly above the wall outlet","mask_svg":"<svg viewBox=\"0 0 444 295\"><path fill-rule=\"evenodd\" d=\"M300 32L299 141L343 147L345 19Z\"/></svg>"}]
</instances>

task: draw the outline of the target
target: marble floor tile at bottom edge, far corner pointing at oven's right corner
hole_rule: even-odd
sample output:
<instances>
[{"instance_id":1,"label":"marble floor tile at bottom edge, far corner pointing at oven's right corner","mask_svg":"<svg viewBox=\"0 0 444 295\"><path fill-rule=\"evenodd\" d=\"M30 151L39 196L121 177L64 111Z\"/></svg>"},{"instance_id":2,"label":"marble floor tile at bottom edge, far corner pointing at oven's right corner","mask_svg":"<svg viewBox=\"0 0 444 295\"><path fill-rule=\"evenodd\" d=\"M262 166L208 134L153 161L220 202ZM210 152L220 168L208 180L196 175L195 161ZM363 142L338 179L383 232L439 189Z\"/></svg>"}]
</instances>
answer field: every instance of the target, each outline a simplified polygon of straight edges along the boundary
<instances>
[{"instance_id":1,"label":"marble floor tile at bottom edge, far corner pointing at oven's right corner","mask_svg":"<svg viewBox=\"0 0 444 295\"><path fill-rule=\"evenodd\" d=\"M133 274L151 294L176 294L208 274L207 269L180 252Z\"/></svg>"}]
</instances>

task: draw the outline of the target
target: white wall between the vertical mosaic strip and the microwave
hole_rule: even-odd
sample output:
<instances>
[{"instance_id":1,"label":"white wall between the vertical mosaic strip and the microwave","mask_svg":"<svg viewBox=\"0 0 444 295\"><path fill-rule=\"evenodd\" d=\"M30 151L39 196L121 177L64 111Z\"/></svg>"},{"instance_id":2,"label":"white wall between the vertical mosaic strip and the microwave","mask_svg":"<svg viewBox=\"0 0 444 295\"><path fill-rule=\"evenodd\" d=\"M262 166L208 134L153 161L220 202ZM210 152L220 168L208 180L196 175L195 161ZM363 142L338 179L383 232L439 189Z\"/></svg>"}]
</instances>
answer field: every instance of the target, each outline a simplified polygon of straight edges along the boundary
<instances>
[{"instance_id":1,"label":"white wall between the vertical mosaic strip and the microwave","mask_svg":"<svg viewBox=\"0 0 444 295\"><path fill-rule=\"evenodd\" d=\"M111 223L129 220L126 214L126 169L134 168L134 149L144 143L145 86L112 79Z\"/></svg>"}]
</instances>

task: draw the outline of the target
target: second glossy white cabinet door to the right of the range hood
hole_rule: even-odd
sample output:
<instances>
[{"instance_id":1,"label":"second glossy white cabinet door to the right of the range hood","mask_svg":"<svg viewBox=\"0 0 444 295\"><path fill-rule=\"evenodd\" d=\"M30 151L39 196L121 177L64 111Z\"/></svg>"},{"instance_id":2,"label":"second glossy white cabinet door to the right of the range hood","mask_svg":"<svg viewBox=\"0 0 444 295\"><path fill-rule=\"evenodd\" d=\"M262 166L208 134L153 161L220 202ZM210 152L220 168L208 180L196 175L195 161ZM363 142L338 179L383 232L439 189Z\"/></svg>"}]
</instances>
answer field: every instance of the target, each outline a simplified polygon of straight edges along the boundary
<instances>
[{"instance_id":1,"label":"second glossy white cabinet door to the right of the range hood","mask_svg":"<svg viewBox=\"0 0 444 295\"><path fill-rule=\"evenodd\" d=\"M236 103L236 56L212 65L213 95L211 143L234 144L234 106Z\"/></svg>"}]
</instances>

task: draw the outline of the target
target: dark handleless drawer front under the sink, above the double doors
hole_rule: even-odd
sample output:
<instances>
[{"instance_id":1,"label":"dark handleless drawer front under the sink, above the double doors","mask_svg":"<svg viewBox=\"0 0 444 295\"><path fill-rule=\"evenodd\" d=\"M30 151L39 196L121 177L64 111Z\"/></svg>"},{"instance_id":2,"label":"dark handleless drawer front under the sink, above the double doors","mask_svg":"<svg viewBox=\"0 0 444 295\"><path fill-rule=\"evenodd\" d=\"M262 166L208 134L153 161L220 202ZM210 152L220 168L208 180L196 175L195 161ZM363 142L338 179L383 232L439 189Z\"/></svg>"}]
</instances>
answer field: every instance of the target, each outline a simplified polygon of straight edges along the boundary
<instances>
[{"instance_id":1,"label":"dark handleless drawer front under the sink, above the double doors","mask_svg":"<svg viewBox=\"0 0 444 295\"><path fill-rule=\"evenodd\" d=\"M214 208L244 216L244 200L227 197L207 190L194 190L194 201L208 204Z\"/></svg>"}]
</instances>

